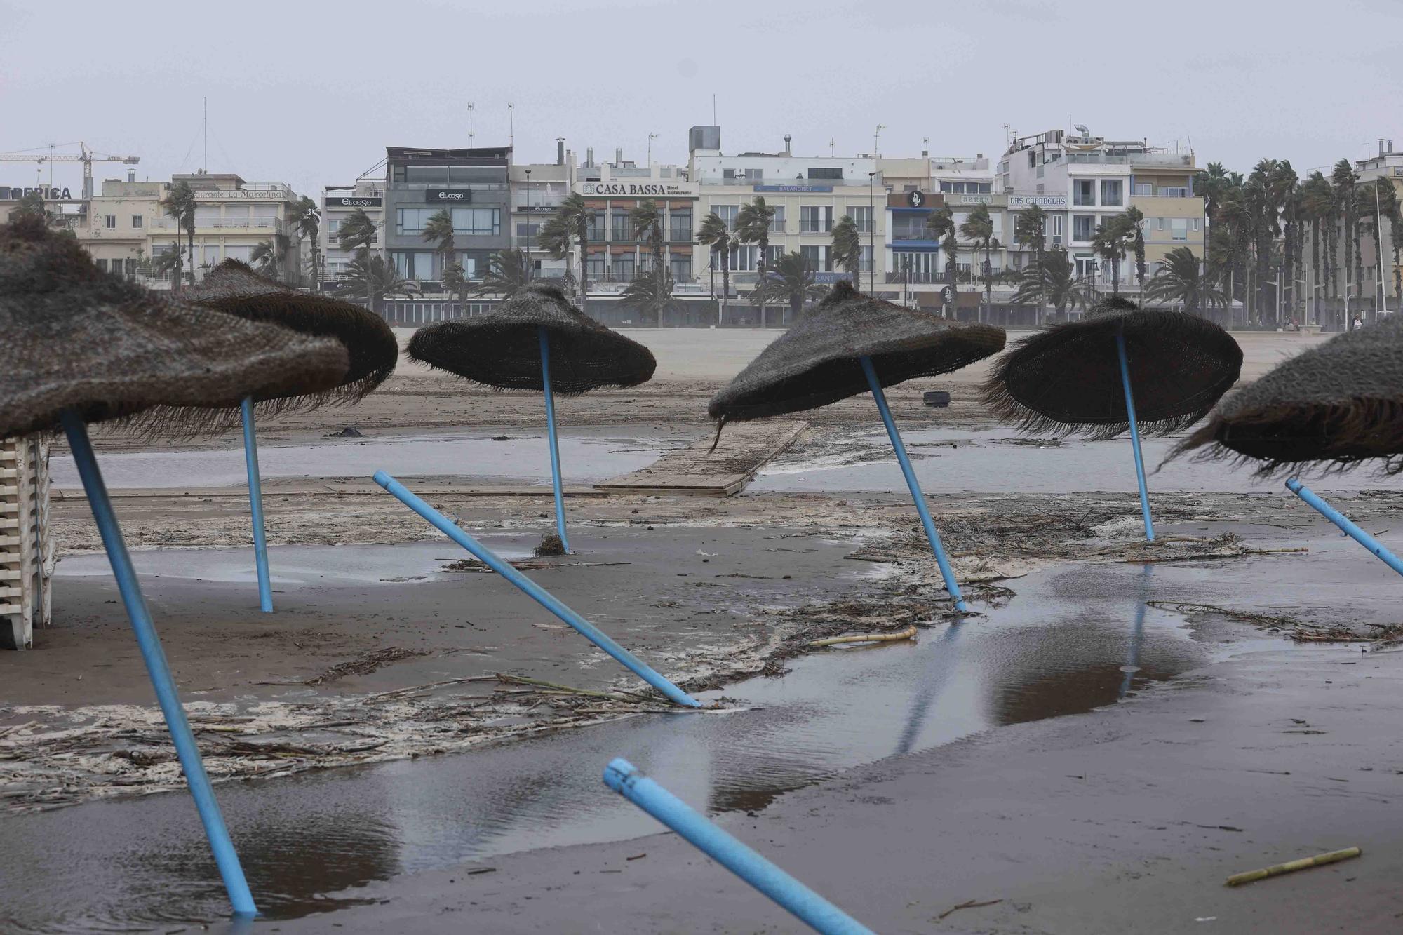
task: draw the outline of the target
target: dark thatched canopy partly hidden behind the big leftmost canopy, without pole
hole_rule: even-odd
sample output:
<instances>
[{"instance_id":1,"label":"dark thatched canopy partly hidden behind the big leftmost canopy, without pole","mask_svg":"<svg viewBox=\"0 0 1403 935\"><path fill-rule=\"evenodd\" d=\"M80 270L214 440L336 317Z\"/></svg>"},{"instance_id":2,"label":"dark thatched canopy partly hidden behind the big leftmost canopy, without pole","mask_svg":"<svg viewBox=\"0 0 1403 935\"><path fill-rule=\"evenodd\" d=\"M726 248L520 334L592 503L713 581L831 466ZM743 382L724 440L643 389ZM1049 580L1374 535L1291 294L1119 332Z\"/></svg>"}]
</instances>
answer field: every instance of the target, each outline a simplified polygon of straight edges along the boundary
<instances>
[{"instance_id":1,"label":"dark thatched canopy partly hidden behind the big leftmost canopy, without pole","mask_svg":"<svg viewBox=\"0 0 1403 935\"><path fill-rule=\"evenodd\" d=\"M271 321L302 334L341 341L351 365L334 390L314 393L318 402L368 396L394 372L400 359L394 331L379 314L341 299L296 292L258 275L239 260L220 263L182 298L251 321Z\"/></svg>"}]
</instances>

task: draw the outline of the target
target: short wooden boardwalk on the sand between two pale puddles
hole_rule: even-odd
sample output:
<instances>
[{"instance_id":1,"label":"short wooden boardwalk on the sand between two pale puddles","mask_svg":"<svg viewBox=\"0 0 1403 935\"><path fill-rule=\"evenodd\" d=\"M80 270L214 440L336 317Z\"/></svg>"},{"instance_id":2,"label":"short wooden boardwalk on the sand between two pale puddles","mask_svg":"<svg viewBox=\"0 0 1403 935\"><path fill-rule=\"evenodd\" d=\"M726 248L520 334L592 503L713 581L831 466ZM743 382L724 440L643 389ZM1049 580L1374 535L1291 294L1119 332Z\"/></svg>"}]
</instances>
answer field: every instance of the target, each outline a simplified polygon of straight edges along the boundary
<instances>
[{"instance_id":1,"label":"short wooden boardwalk on the sand between two pale puddles","mask_svg":"<svg viewBox=\"0 0 1403 935\"><path fill-rule=\"evenodd\" d=\"M808 423L760 420L727 425L721 444L713 435L669 452L647 468L595 484L609 493L668 493L728 497L739 493L772 458L794 444Z\"/></svg>"}]
</instances>

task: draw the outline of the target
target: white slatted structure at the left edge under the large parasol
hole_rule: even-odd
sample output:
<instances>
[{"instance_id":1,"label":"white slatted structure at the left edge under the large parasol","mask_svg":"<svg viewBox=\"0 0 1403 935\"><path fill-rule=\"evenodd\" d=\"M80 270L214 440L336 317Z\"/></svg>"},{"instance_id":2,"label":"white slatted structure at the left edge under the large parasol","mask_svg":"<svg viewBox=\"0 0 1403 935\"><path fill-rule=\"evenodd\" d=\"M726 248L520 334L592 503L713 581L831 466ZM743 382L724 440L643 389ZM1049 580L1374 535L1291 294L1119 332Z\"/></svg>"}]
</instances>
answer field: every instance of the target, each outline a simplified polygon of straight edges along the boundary
<instances>
[{"instance_id":1,"label":"white slatted structure at the left edge under the large parasol","mask_svg":"<svg viewBox=\"0 0 1403 935\"><path fill-rule=\"evenodd\" d=\"M0 438L0 649L28 649L49 625L49 445Z\"/></svg>"}]
</instances>

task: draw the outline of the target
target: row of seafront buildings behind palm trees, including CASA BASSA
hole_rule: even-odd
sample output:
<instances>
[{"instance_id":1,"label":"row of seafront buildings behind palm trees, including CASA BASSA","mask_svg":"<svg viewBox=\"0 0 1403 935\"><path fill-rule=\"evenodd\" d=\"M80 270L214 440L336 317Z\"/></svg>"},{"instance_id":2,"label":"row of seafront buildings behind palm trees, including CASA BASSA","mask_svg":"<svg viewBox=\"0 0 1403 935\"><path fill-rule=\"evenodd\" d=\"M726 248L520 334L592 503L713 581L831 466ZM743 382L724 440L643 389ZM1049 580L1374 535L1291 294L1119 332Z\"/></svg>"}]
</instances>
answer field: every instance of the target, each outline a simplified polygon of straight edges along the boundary
<instances>
[{"instance_id":1,"label":"row of seafront buildings behind palm trees, including CASA BASSA","mask_svg":"<svg viewBox=\"0 0 1403 935\"><path fill-rule=\"evenodd\" d=\"M1392 153L1360 163L1361 175L1399 175ZM1374 163L1378 163L1375 166ZM760 263L759 246L734 244L727 257L730 295L723 296L718 253L696 243L703 219L716 213L734 226L741 208L763 197L774 208L769 230L770 260L798 253L818 282L847 278L835 264L833 226L852 218L863 247L861 286L884 298L922 307L972 314L984 299L979 277L988 263L993 306L1006 321L1030 316L1010 309L1016 275L1031 251L1014 237L1020 212L1037 205L1045 213L1048 248L1062 247L1076 274L1101 286L1111 271L1092 250L1099 225L1138 208L1145 220L1145 254L1153 275L1170 250L1204 254L1204 198L1194 190L1198 171L1193 153L1150 145L1146 139L1115 140L1085 128L1014 136L1002 157L800 156L793 140L776 152L725 154L720 126L693 126L686 164L638 164L616 149L612 160L596 160L593 149L579 157L557 140L551 163L516 163L511 147L386 149L372 173L344 185L328 185L317 202L318 243L307 243L292 218L299 195L283 184L246 183L233 174L194 173L167 181L105 180L101 194L74 202L51 198L59 219L70 226L97 263L112 271L143 277L152 285L152 261L180 248L184 232L166 216L161 199L173 184L195 191L194 258L198 279L223 258L250 260L260 250L276 253L278 272L310 288L331 289L342 279L352 251L340 246L340 229L358 211L376 225L369 250L398 277L415 284L412 293L390 295L382 310L390 320L418 323L473 314L492 296L466 303L443 285L445 254L424 237L429 218L450 212L455 254L467 279L480 279L492 254L513 247L526 251L537 278L564 278L578 271L579 257L553 257L542 248L540 227L570 194L592 209L585 251L591 314L627 324L637 313L620 302L627 284L652 263L648 244L634 230L630 209L651 199L664 212L664 263L675 281L679 324L753 324L748 302ZM0 215L6 190L0 188ZM13 204L13 199L8 202ZM988 250L960 239L954 257L957 286L947 286L950 263L927 227L936 209L948 206L958 226L979 206L993 223ZM311 260L318 265L313 268ZM1132 264L1122 264L1121 289L1135 292ZM1104 286L1103 286L1104 288ZM724 302L723 302L724 299ZM721 306L725 305L725 317ZM954 306L954 307L951 307Z\"/></svg>"}]
</instances>

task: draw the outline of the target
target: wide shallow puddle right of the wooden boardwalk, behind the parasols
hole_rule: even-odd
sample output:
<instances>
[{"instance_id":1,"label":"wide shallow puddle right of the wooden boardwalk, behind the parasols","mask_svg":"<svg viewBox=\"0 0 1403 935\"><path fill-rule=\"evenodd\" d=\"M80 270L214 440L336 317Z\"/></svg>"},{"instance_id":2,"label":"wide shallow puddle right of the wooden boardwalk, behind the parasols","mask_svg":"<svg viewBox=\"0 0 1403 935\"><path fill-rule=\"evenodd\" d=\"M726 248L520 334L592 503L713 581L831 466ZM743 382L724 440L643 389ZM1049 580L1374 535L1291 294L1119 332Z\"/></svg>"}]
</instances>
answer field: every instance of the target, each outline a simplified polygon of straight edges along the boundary
<instances>
[{"instance_id":1,"label":"wide shallow puddle right of the wooden boardwalk, behind the parasols","mask_svg":"<svg viewBox=\"0 0 1403 935\"><path fill-rule=\"evenodd\" d=\"M875 413L873 416L875 420ZM1003 491L1070 493L1089 490L1135 491L1135 462L1129 438L1110 441L1044 438L1042 445L1020 444L1028 437L1012 430L904 430L902 439L922 489L930 493ZM1179 444L1177 438L1142 441L1145 469L1155 470ZM1309 477L1302 475L1302 477ZM1281 480L1258 480L1250 468L1222 462L1177 459L1146 477L1150 493L1264 493L1284 490ZM1367 470L1308 479L1319 490L1367 490L1386 486ZM748 493L794 491L905 491L897 458L881 425L870 431L819 437L770 462Z\"/></svg>"}]
</instances>

